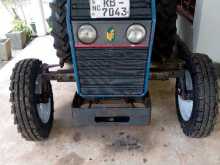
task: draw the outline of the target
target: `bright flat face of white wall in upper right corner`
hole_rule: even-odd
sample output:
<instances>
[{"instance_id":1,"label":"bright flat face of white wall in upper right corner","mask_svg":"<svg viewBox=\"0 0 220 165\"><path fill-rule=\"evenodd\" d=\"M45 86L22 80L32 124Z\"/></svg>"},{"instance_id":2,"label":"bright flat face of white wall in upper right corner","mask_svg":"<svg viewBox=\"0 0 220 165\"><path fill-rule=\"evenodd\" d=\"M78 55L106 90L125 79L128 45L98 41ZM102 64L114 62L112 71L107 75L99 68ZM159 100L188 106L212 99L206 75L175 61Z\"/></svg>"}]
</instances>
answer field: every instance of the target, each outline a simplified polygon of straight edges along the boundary
<instances>
[{"instance_id":1,"label":"bright flat face of white wall in upper right corner","mask_svg":"<svg viewBox=\"0 0 220 165\"><path fill-rule=\"evenodd\" d=\"M203 52L220 62L220 0L204 0L197 52Z\"/></svg>"}]
</instances>

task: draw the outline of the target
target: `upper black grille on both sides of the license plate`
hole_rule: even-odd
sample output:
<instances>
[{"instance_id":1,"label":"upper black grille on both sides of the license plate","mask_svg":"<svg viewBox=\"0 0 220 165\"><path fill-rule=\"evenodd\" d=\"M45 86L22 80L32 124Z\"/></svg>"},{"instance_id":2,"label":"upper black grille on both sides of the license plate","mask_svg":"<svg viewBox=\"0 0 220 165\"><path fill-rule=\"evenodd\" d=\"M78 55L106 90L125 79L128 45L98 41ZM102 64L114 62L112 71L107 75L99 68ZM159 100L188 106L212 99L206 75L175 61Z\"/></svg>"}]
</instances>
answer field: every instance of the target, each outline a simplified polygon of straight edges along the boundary
<instances>
[{"instance_id":1,"label":"upper black grille on both sides of the license plate","mask_svg":"<svg viewBox=\"0 0 220 165\"><path fill-rule=\"evenodd\" d=\"M131 13L129 19L151 19L151 0L130 0ZM89 0L72 1L72 19L89 20ZM109 19L108 19L109 20Z\"/></svg>"}]
</instances>

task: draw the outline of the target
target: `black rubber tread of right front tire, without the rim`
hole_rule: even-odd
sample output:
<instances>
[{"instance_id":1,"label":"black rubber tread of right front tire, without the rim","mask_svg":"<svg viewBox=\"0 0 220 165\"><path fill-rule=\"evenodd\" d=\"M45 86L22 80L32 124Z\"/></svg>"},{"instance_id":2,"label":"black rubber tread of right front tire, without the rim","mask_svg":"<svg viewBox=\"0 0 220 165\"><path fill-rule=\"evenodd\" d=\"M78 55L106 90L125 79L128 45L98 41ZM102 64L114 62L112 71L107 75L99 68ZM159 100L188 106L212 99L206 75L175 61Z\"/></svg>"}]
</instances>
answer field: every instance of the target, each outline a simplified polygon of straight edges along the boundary
<instances>
[{"instance_id":1,"label":"black rubber tread of right front tire, without the rim","mask_svg":"<svg viewBox=\"0 0 220 165\"><path fill-rule=\"evenodd\" d=\"M194 79L194 114L189 122L178 117L183 132L193 138L207 137L216 124L218 115L218 86L214 65L207 55L195 54L188 58Z\"/></svg>"}]
</instances>

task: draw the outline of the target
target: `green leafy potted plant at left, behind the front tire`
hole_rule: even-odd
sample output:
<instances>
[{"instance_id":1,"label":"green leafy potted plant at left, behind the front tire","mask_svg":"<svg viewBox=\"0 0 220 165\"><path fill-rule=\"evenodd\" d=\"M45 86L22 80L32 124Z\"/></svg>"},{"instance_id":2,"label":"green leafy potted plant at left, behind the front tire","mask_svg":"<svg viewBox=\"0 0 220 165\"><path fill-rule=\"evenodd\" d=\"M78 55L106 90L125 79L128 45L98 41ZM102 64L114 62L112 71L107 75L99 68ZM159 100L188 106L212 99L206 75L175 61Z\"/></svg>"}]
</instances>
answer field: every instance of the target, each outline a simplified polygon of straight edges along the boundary
<instances>
[{"instance_id":1,"label":"green leafy potted plant at left, behind the front tire","mask_svg":"<svg viewBox=\"0 0 220 165\"><path fill-rule=\"evenodd\" d=\"M32 30L31 30L31 28L29 28L27 26L27 24L24 21L15 19L13 21L13 29L12 30L17 31L17 32L24 32L27 36L27 41L31 40Z\"/></svg>"}]
</instances>

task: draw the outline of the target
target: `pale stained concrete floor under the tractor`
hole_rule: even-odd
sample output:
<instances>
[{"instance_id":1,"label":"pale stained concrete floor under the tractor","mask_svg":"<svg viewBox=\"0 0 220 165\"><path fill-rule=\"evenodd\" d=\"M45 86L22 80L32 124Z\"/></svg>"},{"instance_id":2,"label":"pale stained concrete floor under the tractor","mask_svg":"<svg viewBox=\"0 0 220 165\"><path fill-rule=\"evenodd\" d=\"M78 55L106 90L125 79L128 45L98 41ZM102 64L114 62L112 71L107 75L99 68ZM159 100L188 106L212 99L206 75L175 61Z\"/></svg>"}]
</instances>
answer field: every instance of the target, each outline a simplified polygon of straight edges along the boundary
<instances>
[{"instance_id":1,"label":"pale stained concrete floor under the tractor","mask_svg":"<svg viewBox=\"0 0 220 165\"><path fill-rule=\"evenodd\" d=\"M17 133L9 104L9 77L22 58L56 63L52 38L35 39L16 52L0 70L0 164L10 165L219 165L220 122L205 139L183 135L175 110L174 83L151 82L152 123L140 127L81 127L72 125L74 84L53 83L55 121L47 141L26 142Z\"/></svg>"}]
</instances>

